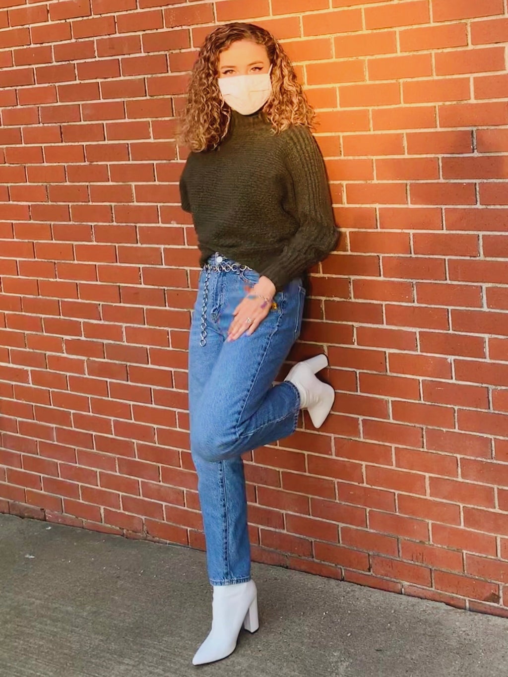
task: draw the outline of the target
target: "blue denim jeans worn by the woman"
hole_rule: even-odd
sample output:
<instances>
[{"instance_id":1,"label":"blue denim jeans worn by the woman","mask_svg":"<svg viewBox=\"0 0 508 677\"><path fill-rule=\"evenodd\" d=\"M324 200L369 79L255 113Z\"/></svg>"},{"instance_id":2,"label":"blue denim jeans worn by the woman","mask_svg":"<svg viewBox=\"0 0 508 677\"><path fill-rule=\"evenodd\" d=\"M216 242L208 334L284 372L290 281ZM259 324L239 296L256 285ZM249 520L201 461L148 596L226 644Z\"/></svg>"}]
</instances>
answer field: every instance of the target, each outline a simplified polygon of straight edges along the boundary
<instances>
[{"instance_id":1,"label":"blue denim jeans worn by the woman","mask_svg":"<svg viewBox=\"0 0 508 677\"><path fill-rule=\"evenodd\" d=\"M210 263L215 263L213 255ZM224 263L233 263L224 259ZM251 577L251 546L241 454L291 435L297 427L299 393L284 381L273 385L301 329L305 289L295 278L280 292L251 334L226 342L233 311L255 271L210 271L199 278L189 341L190 449L198 474L207 569L211 585ZM202 322L207 336L202 339Z\"/></svg>"}]
</instances>

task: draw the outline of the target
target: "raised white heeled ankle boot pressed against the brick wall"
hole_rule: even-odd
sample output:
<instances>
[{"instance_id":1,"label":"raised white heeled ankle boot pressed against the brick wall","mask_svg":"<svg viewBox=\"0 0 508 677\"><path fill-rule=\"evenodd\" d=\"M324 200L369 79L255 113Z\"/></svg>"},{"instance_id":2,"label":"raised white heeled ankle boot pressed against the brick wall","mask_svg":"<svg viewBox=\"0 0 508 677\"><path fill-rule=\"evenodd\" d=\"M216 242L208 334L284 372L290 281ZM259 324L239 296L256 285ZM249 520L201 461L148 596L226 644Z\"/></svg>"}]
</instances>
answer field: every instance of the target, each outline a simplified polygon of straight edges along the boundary
<instances>
[{"instance_id":1,"label":"raised white heeled ankle boot pressed against the brick wall","mask_svg":"<svg viewBox=\"0 0 508 677\"><path fill-rule=\"evenodd\" d=\"M307 409L310 420L320 428L329 415L335 399L335 390L322 383L314 374L328 366L326 355L316 355L295 364L284 380L291 381L300 394L300 408Z\"/></svg>"}]
</instances>

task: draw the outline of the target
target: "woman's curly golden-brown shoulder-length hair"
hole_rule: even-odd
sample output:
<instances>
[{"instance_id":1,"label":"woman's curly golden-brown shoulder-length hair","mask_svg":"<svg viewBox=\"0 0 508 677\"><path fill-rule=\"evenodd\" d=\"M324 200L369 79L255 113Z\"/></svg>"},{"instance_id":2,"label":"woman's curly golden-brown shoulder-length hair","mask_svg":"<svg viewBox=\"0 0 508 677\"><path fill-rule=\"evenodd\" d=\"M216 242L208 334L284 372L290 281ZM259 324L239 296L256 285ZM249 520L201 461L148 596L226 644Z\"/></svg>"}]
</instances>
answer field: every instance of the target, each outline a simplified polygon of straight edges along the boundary
<instances>
[{"instance_id":1,"label":"woman's curly golden-brown shoulder-length hair","mask_svg":"<svg viewBox=\"0 0 508 677\"><path fill-rule=\"evenodd\" d=\"M291 125L313 127L314 109L280 43L261 26L233 22L219 26L207 35L192 68L179 140L194 152L217 148L228 133L231 108L221 98L217 84L219 53L238 40L250 40L266 47L272 64L272 93L262 115L272 124L273 133Z\"/></svg>"}]
</instances>

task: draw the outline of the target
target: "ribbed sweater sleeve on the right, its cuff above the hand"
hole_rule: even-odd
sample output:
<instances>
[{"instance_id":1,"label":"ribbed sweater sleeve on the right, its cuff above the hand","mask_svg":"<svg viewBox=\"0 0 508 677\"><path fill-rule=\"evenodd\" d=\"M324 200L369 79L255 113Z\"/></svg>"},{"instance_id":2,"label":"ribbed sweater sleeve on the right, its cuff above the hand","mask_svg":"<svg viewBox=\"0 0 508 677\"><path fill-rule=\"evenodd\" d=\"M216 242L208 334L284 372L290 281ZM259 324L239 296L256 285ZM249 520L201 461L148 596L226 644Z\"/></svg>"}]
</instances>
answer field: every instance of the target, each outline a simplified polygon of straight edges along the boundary
<instances>
[{"instance_id":1,"label":"ribbed sweater sleeve on the right, its cuff above the hand","mask_svg":"<svg viewBox=\"0 0 508 677\"><path fill-rule=\"evenodd\" d=\"M291 127L283 134L299 228L282 253L266 261L259 270L278 290L326 258L339 237L324 160L316 139L302 125Z\"/></svg>"}]
</instances>

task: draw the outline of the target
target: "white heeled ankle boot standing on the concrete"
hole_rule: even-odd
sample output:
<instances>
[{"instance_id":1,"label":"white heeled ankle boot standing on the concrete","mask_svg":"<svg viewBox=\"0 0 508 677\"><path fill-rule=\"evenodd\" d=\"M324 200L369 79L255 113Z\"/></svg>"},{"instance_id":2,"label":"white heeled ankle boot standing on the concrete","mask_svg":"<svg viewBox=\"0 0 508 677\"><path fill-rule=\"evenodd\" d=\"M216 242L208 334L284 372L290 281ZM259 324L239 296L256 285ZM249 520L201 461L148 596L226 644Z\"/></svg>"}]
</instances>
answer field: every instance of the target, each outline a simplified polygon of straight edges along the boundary
<instances>
[{"instance_id":1,"label":"white heeled ankle boot standing on the concrete","mask_svg":"<svg viewBox=\"0 0 508 677\"><path fill-rule=\"evenodd\" d=\"M255 582L251 579L245 583L213 586L211 631L194 654L192 663L211 663L233 653L242 624L249 632L259 628Z\"/></svg>"}]
</instances>

